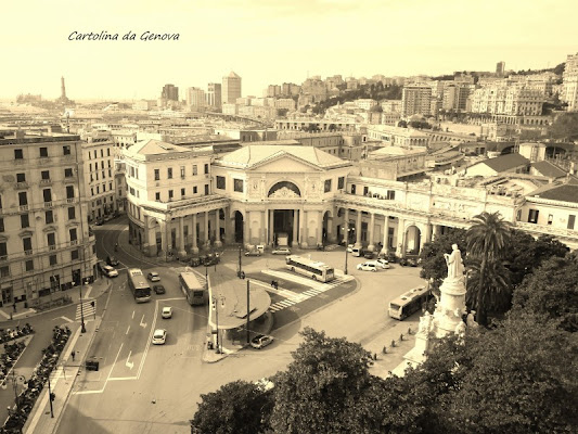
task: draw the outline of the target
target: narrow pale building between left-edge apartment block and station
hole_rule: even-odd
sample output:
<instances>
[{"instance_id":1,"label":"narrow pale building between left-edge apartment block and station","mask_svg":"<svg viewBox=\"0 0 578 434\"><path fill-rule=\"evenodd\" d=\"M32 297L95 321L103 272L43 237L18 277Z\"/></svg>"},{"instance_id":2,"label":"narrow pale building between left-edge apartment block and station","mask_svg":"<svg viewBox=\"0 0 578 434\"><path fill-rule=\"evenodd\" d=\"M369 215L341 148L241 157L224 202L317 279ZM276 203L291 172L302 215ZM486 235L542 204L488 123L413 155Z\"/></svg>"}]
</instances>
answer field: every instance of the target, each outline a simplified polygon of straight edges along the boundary
<instances>
[{"instance_id":1,"label":"narrow pale building between left-edge apartment block and station","mask_svg":"<svg viewBox=\"0 0 578 434\"><path fill-rule=\"evenodd\" d=\"M116 209L115 143L110 132L82 135L85 184L89 203L88 221L100 220Z\"/></svg>"}]
</instances>

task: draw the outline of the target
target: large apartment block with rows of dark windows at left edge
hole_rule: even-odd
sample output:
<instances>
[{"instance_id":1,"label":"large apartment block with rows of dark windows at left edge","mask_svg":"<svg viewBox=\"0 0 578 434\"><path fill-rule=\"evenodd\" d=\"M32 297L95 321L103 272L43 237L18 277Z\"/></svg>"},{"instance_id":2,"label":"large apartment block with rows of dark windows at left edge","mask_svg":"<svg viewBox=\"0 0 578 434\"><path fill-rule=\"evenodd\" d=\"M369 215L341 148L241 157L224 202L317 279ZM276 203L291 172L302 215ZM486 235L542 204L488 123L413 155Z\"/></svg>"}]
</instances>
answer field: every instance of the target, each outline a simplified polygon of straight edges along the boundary
<instances>
[{"instance_id":1,"label":"large apartment block with rows of dark windows at left edge","mask_svg":"<svg viewBox=\"0 0 578 434\"><path fill-rule=\"evenodd\" d=\"M84 144L20 130L0 139L0 304L35 306L93 280Z\"/></svg>"}]
</instances>

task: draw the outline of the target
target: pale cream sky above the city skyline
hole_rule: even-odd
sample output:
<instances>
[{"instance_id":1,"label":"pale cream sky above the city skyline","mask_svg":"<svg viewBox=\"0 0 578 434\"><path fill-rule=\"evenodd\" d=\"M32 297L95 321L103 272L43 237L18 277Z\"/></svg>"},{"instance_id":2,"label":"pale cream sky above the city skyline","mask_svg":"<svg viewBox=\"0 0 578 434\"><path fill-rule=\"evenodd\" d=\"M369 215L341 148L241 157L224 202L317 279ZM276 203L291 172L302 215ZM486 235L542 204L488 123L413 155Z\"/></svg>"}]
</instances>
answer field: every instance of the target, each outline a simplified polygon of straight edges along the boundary
<instances>
[{"instance_id":1,"label":"pale cream sky above the city skyline","mask_svg":"<svg viewBox=\"0 0 578 434\"><path fill-rule=\"evenodd\" d=\"M7 0L0 99L156 99L234 71L243 95L308 76L553 67L578 52L576 0ZM118 34L112 40L68 40ZM129 31L136 40L121 40ZM140 40L144 31L179 40Z\"/></svg>"}]
</instances>

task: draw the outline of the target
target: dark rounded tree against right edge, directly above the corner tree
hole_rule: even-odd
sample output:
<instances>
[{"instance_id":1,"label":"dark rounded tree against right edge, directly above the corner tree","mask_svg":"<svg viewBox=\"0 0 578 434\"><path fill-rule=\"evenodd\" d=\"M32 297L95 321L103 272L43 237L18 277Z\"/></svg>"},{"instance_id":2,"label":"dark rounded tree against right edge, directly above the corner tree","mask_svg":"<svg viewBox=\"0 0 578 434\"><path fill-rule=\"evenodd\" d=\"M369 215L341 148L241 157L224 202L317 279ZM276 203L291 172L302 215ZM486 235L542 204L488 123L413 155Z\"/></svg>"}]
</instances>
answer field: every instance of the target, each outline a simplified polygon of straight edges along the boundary
<instances>
[{"instance_id":1,"label":"dark rounded tree against right edge, directly above the corner tree","mask_svg":"<svg viewBox=\"0 0 578 434\"><path fill-rule=\"evenodd\" d=\"M552 257L516 289L512 315L531 312L568 332L578 331L578 259Z\"/></svg>"}]
</instances>

